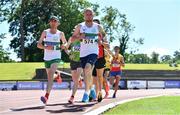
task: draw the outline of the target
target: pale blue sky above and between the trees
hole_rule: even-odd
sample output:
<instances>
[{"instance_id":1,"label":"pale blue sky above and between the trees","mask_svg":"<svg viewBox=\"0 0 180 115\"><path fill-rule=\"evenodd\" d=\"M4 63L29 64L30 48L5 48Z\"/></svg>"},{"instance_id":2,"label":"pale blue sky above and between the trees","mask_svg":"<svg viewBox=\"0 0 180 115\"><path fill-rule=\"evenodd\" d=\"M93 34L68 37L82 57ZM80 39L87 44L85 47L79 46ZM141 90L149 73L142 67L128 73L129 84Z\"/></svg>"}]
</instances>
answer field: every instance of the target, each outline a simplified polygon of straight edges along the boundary
<instances>
[{"instance_id":1,"label":"pale blue sky above and between the trees","mask_svg":"<svg viewBox=\"0 0 180 115\"><path fill-rule=\"evenodd\" d=\"M89 0L100 4L100 8L113 6L127 15L136 28L132 38L143 37L144 45L138 53L172 55L180 49L180 0ZM8 32L7 23L0 24L0 33ZM4 40L8 48L10 35ZM113 45L119 45L117 41ZM133 47L133 46L131 46ZM15 58L14 54L11 57Z\"/></svg>"}]
</instances>

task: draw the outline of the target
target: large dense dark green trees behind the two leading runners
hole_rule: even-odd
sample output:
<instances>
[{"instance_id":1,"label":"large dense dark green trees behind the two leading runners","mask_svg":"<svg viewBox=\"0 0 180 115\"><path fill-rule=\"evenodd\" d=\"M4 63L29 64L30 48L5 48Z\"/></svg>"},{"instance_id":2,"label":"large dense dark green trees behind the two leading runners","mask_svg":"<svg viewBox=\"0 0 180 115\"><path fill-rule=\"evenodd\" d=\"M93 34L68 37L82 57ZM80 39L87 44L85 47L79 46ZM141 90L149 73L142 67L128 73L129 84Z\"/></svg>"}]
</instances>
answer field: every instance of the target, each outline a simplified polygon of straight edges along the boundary
<instances>
[{"instance_id":1,"label":"large dense dark green trees behind the two leading runners","mask_svg":"<svg viewBox=\"0 0 180 115\"><path fill-rule=\"evenodd\" d=\"M13 3L13 0L9 2ZM96 12L99 6L86 0L25 0L19 2L7 19L10 24L9 32L13 36L11 48L17 52L18 57L21 57L21 46L24 42L24 61L42 61L43 51L36 48L36 42L41 32L49 27L50 16L59 17L58 29L65 33L66 38L69 38L74 26L83 21L82 11L86 7L93 7ZM65 53L62 54L62 59L68 60Z\"/></svg>"}]
</instances>

